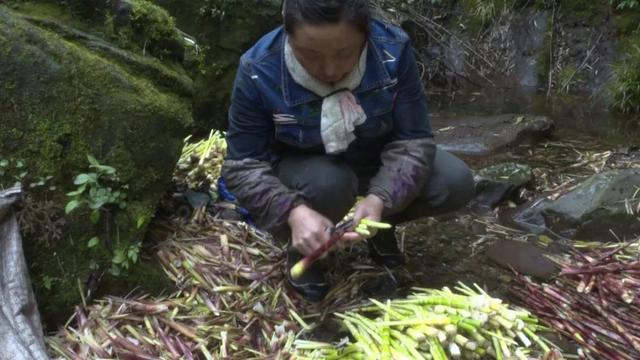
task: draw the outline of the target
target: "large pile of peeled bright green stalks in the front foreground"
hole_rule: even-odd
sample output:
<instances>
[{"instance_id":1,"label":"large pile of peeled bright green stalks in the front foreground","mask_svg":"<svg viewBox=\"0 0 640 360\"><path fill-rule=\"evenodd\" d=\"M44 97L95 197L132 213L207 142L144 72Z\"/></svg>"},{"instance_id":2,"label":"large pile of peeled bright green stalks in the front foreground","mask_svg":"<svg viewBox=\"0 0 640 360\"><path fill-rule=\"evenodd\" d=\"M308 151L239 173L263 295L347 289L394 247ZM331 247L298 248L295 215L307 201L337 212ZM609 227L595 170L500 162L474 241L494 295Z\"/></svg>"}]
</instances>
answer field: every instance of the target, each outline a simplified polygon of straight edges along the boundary
<instances>
[{"instance_id":1,"label":"large pile of peeled bright green stalks in the front foreground","mask_svg":"<svg viewBox=\"0 0 640 360\"><path fill-rule=\"evenodd\" d=\"M503 304L478 286L454 293L416 288L406 299L337 314L353 342L339 345L296 340L304 359L529 359L560 358L536 334L529 312Z\"/></svg>"}]
</instances>

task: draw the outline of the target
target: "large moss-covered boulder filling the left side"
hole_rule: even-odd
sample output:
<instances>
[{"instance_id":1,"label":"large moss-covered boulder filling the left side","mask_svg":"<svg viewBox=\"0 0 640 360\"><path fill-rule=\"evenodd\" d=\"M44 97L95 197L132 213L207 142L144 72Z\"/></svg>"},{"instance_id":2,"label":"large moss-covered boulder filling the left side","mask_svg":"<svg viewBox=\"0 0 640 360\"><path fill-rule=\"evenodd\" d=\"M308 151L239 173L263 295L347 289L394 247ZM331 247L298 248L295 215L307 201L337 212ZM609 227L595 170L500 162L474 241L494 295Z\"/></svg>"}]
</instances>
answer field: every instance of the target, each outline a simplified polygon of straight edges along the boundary
<instances>
[{"instance_id":1,"label":"large moss-covered boulder filling the left side","mask_svg":"<svg viewBox=\"0 0 640 360\"><path fill-rule=\"evenodd\" d=\"M0 186L18 180L30 193L22 224L43 317L63 320L81 293L164 287L159 269L133 260L143 257L137 244L192 124L190 78L177 66L0 6L0 79ZM78 174L111 171L90 168L89 154L117 171L103 192L126 197L101 206L100 218L86 206L65 215ZM114 266L126 276L111 275ZM96 285L105 283L113 286Z\"/></svg>"}]
</instances>

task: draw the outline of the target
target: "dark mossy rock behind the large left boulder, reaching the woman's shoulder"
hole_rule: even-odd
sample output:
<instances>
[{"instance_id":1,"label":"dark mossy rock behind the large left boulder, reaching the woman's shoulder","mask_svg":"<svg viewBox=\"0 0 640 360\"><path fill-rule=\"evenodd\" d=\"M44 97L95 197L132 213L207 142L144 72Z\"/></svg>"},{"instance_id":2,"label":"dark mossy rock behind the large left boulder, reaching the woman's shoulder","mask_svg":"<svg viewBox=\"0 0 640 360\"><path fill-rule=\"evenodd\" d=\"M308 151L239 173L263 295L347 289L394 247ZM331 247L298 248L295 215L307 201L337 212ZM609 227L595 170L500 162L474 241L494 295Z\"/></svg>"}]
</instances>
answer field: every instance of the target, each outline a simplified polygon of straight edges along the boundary
<instances>
[{"instance_id":1,"label":"dark mossy rock behind the large left boulder, reaching the woman's shoulder","mask_svg":"<svg viewBox=\"0 0 640 360\"><path fill-rule=\"evenodd\" d=\"M33 11L64 3L68 17L122 48L178 60L194 80L195 135L225 129L240 56L278 26L280 0L10 0ZM58 14L59 15L59 14ZM180 30L177 30L176 27ZM197 47L184 47L190 35Z\"/></svg>"}]
</instances>

